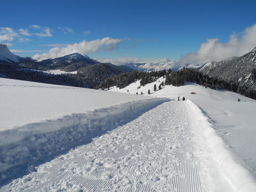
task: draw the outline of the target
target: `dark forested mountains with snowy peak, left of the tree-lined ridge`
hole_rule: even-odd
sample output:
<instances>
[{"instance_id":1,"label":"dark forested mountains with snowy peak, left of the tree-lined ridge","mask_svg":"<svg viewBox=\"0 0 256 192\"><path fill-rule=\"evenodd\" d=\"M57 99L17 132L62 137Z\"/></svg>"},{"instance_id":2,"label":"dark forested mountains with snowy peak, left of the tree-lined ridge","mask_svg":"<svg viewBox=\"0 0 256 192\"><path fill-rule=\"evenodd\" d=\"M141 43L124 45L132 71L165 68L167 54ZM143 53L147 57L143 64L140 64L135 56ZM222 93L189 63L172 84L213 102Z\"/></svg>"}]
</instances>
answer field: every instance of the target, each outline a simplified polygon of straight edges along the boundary
<instances>
[{"instance_id":1,"label":"dark forested mountains with snowy peak, left of the tree-lined ridge","mask_svg":"<svg viewBox=\"0 0 256 192\"><path fill-rule=\"evenodd\" d=\"M36 71L49 71L59 69L61 71L72 72L77 71L77 74L56 75L52 83L79 85L79 87L96 88L104 79L120 73L131 72L134 69L128 66L115 66L112 63L100 63L99 61L90 58L87 55L72 53L69 55L49 58L41 61L32 59L31 57L19 57L10 52L8 47L0 44L0 77L15 78L21 80L33 80L38 82L49 82L45 80L44 75L37 74ZM5 66L4 66L5 65ZM24 76L26 71L27 77ZM45 74L49 76L49 74ZM52 75L53 76L53 75ZM65 79L66 77L67 79ZM75 80L74 80L75 79ZM72 82L73 84L70 84Z\"/></svg>"}]
</instances>

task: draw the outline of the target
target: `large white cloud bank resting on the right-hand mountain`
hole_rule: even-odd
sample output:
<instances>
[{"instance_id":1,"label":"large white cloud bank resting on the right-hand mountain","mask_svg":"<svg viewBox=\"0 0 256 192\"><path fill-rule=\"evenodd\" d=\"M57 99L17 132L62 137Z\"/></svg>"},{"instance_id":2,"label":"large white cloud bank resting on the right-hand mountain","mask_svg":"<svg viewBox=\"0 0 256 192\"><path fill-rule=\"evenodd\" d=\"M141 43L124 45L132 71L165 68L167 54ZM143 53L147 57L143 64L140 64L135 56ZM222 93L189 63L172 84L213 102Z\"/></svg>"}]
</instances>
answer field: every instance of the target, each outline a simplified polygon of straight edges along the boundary
<instances>
[{"instance_id":1,"label":"large white cloud bank resting on the right-hand mountain","mask_svg":"<svg viewBox=\"0 0 256 192\"><path fill-rule=\"evenodd\" d=\"M233 56L242 56L256 47L256 24L247 27L241 33L232 33L227 42L219 42L218 38L209 38L193 53L182 56L177 61L161 59L145 62L139 67L145 70L180 69L182 67L197 68L208 61L220 61ZM117 59L118 60L118 59Z\"/></svg>"}]
</instances>

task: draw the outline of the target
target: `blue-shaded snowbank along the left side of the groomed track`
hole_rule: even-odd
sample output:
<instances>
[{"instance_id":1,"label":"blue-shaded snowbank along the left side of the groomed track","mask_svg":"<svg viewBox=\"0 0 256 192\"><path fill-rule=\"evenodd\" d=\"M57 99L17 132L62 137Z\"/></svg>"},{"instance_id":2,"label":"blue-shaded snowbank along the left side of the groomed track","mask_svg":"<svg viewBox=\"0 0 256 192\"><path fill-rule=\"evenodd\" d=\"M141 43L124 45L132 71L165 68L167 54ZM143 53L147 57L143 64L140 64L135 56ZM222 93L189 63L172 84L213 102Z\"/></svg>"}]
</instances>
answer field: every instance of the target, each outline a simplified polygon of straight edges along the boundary
<instances>
[{"instance_id":1,"label":"blue-shaded snowbank along the left side of the groomed track","mask_svg":"<svg viewBox=\"0 0 256 192\"><path fill-rule=\"evenodd\" d=\"M87 113L72 114L56 120L31 123L0 132L0 173L16 166L33 167L47 157L65 153L71 147L127 123L142 113L169 101L152 98L130 101ZM5 173L4 173L5 172ZM1 183L0 183L1 184Z\"/></svg>"}]
</instances>

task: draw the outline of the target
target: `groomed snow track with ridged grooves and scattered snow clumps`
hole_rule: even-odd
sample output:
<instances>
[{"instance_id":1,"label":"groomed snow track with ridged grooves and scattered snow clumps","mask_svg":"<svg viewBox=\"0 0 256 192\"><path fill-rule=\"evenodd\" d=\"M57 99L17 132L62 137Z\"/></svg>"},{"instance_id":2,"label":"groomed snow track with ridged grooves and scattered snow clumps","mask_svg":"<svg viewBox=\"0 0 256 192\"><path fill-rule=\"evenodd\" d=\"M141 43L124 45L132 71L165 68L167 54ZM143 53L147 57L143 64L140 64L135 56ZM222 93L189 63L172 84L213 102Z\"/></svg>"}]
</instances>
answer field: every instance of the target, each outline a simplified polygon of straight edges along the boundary
<instances>
[{"instance_id":1,"label":"groomed snow track with ridged grooves and scattered snow clumps","mask_svg":"<svg viewBox=\"0 0 256 192\"><path fill-rule=\"evenodd\" d=\"M188 108L165 102L0 191L218 191Z\"/></svg>"}]
</instances>

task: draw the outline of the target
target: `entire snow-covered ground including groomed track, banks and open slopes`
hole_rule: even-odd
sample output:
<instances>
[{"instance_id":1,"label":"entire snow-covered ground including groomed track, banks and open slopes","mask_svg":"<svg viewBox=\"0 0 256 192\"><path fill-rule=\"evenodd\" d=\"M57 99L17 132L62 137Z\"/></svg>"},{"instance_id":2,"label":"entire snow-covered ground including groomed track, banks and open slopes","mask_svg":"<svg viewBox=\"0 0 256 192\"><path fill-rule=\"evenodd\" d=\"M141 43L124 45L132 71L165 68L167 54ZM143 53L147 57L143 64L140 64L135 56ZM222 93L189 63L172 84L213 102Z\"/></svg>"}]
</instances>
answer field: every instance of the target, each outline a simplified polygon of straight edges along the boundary
<instances>
[{"instance_id":1,"label":"entire snow-covered ground including groomed track, banks and open slopes","mask_svg":"<svg viewBox=\"0 0 256 192\"><path fill-rule=\"evenodd\" d=\"M256 102L194 83L154 92L162 80L99 91L0 78L0 191L256 191Z\"/></svg>"}]
</instances>

